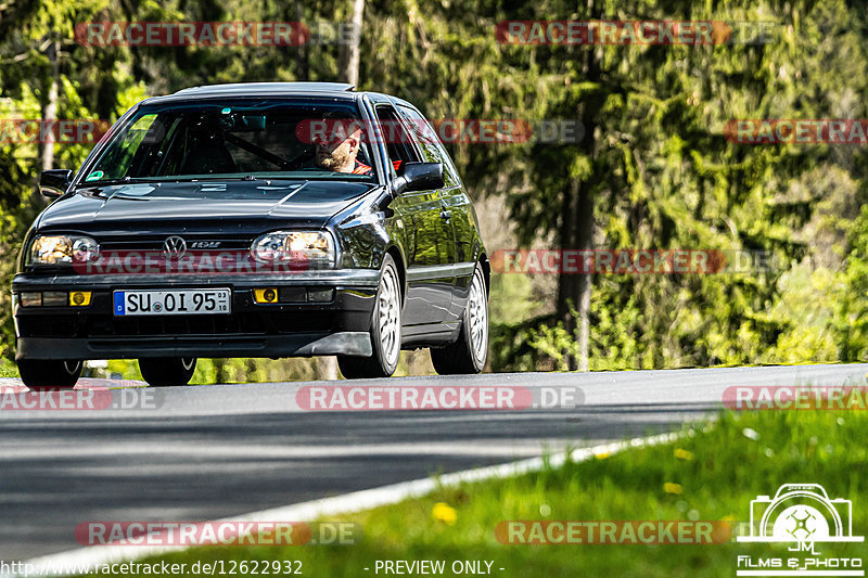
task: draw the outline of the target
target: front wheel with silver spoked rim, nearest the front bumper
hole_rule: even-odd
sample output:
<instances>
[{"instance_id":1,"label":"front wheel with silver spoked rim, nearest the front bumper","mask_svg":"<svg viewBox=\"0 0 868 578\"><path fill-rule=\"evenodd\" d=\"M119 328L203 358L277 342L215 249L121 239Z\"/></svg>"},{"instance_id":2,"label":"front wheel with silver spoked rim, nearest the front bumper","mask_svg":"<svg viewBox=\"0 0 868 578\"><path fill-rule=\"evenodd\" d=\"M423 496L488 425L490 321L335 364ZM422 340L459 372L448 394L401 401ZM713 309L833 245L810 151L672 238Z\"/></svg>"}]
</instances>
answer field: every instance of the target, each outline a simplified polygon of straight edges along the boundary
<instances>
[{"instance_id":1,"label":"front wheel with silver spoked rim, nearest the front bumper","mask_svg":"<svg viewBox=\"0 0 868 578\"><path fill-rule=\"evenodd\" d=\"M392 255L383 259L380 287L371 317L371 357L337 356L337 365L347 380L390 377L400 357L401 286Z\"/></svg>"}]
</instances>

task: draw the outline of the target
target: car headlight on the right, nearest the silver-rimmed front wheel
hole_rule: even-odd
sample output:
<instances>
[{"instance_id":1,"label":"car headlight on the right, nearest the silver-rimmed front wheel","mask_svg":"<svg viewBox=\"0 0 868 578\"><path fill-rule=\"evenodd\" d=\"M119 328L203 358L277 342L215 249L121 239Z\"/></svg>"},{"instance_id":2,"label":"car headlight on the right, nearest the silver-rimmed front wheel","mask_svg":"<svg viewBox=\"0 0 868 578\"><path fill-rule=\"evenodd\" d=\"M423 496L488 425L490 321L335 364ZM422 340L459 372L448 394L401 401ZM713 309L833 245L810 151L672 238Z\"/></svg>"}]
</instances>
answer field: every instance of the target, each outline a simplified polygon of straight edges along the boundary
<instances>
[{"instance_id":1,"label":"car headlight on the right, nearest the silver-rimmed front wheel","mask_svg":"<svg viewBox=\"0 0 868 578\"><path fill-rule=\"evenodd\" d=\"M260 262L298 264L311 269L334 267L334 241L327 231L275 231L251 247Z\"/></svg>"}]
</instances>

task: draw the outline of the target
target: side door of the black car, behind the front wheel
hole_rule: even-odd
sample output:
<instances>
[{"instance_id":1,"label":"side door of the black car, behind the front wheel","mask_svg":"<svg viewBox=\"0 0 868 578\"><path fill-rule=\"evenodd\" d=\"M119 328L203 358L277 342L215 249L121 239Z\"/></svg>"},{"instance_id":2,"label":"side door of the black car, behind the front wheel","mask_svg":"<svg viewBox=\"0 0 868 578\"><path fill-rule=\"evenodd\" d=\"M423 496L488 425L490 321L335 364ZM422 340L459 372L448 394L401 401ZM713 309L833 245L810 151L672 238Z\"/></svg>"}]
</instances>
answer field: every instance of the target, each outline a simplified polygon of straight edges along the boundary
<instances>
[{"instance_id":1,"label":"side door of the black car, behind the front wheel","mask_svg":"<svg viewBox=\"0 0 868 578\"><path fill-rule=\"evenodd\" d=\"M374 110L386 141L391 170L399 174L403 164L423 160L395 107L378 104ZM405 192L395 200L393 208L404 216L407 234L404 324L443 323L451 314L455 234L450 215L444 209L441 191Z\"/></svg>"}]
</instances>

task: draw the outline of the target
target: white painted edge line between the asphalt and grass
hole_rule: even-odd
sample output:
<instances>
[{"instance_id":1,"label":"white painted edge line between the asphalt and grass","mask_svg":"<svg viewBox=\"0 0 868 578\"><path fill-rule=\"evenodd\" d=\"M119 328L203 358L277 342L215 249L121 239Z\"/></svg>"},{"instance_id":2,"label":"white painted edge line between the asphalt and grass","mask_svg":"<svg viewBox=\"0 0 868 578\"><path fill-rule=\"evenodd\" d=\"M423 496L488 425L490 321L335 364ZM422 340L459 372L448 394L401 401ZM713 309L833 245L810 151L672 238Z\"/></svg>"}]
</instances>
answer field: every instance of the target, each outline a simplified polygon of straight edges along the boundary
<instances>
[{"instance_id":1,"label":"white painted edge line between the asphalt and grass","mask_svg":"<svg viewBox=\"0 0 868 578\"><path fill-rule=\"evenodd\" d=\"M570 452L572 462L584 462L596 455L617 453L631 448L656 446L675 441L681 436L678 433L662 434L646 438L635 438L627 441L615 441L590 448L580 448ZM550 458L529 458L518 462L478 467L445 474L437 478L414 479L401 481L380 488L354 491L343 496L323 498L259 512L251 512L229 518L210 522L314 522L323 516L348 514L362 510L371 510L383 505L391 505L407 499L420 498L437 490L441 487L458 486L468 481L483 481L539 472L548 464L559 467L567 461L565 453L558 453ZM118 521L122 522L122 521ZM203 522L200 525L209 524ZM72 531L72 528L71 528ZM34 571L0 573L0 578L24 578L33 576L71 576L81 573L82 568L91 568L98 564L114 564L117 562L132 562L148 556L155 556L168 552L187 550L181 545L90 545L59 554L50 554L31 558L21 563L20 568L34 568Z\"/></svg>"}]
</instances>

